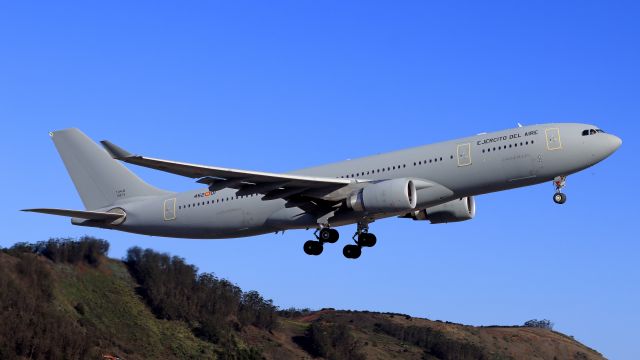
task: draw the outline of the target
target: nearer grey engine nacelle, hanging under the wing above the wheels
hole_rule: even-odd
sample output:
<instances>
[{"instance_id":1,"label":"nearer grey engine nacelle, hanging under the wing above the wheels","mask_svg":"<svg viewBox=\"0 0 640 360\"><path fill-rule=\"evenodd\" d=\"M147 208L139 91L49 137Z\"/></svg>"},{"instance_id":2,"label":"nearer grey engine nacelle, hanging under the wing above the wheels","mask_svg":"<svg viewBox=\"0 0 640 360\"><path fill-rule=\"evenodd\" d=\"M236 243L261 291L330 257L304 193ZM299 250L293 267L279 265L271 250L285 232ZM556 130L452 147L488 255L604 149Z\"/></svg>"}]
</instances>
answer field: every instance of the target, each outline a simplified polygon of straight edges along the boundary
<instances>
[{"instance_id":1,"label":"nearer grey engine nacelle, hanging under the wing above the wheels","mask_svg":"<svg viewBox=\"0 0 640 360\"><path fill-rule=\"evenodd\" d=\"M347 207L371 213L415 209L416 186L410 179L393 179L369 184L347 198Z\"/></svg>"}]
</instances>

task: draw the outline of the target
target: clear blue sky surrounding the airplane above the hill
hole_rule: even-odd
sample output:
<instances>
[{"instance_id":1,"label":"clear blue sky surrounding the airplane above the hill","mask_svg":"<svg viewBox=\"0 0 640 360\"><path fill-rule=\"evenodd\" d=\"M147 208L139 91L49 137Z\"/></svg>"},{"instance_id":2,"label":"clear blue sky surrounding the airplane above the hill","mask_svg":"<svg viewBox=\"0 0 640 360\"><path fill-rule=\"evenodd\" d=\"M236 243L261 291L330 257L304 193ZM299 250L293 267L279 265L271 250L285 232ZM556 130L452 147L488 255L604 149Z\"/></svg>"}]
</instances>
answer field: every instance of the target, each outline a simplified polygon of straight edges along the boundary
<instances>
[{"instance_id":1,"label":"clear blue sky surrounding the airplane above the hill","mask_svg":"<svg viewBox=\"0 0 640 360\"><path fill-rule=\"evenodd\" d=\"M282 307L394 311L472 325L548 318L637 359L637 2L2 2L0 245L89 234L180 255ZM134 152L287 171L514 127L587 122L624 144L551 184L480 196L477 217L376 222L358 261L311 232L222 241L77 228L47 136L78 127ZM171 190L192 180L132 168Z\"/></svg>"}]
</instances>

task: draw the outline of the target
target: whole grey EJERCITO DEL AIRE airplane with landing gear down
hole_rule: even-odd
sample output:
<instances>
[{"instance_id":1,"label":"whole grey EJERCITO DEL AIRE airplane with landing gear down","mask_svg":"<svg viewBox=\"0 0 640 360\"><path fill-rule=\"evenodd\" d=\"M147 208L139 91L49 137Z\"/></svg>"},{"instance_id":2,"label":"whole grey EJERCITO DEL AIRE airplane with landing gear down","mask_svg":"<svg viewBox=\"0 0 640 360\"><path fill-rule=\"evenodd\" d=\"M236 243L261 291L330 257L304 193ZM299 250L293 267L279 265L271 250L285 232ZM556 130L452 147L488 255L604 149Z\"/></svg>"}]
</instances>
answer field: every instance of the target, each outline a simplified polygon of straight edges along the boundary
<instances>
[{"instance_id":1,"label":"whole grey EJERCITO DEL AIRE airplane with landing gear down","mask_svg":"<svg viewBox=\"0 0 640 360\"><path fill-rule=\"evenodd\" d=\"M400 217L432 224L466 221L475 196L553 181L564 204L568 175L613 154L622 140L594 125L521 126L431 145L271 173L190 164L136 155L109 142L102 147L78 129L49 133L85 210L25 209L71 217L71 223L136 234L223 239L314 229L304 243L320 255L335 229L356 224L343 248L357 259L373 247L369 225ZM196 179L198 190L153 187L121 162Z\"/></svg>"}]
</instances>

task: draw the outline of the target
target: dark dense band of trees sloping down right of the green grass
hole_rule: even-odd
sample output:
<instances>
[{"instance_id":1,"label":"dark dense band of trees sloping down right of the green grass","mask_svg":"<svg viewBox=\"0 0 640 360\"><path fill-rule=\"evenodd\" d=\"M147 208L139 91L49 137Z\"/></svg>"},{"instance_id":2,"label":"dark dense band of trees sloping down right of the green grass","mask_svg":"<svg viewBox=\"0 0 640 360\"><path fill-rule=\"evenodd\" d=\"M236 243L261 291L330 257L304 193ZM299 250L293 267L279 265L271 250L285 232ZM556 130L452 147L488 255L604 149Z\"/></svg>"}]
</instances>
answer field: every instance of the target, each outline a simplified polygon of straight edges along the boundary
<instances>
[{"instance_id":1,"label":"dark dense band of trees sloping down right of the green grass","mask_svg":"<svg viewBox=\"0 0 640 360\"><path fill-rule=\"evenodd\" d=\"M136 247L127 253L126 264L158 317L184 321L205 340L233 342L233 329L253 325L272 331L277 325L271 300L213 274L198 275L184 259Z\"/></svg>"}]
</instances>

